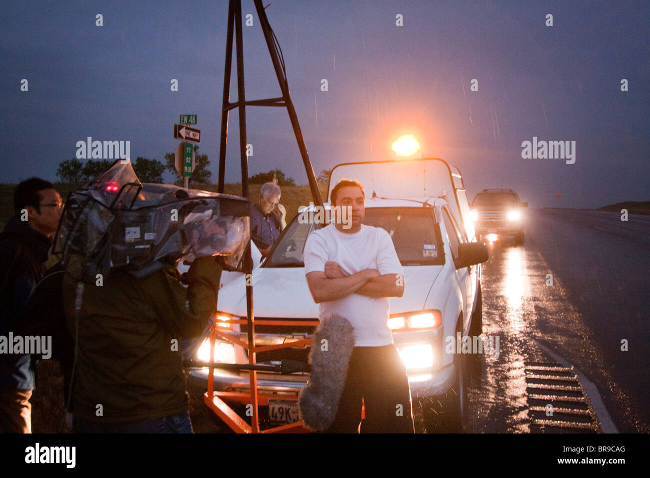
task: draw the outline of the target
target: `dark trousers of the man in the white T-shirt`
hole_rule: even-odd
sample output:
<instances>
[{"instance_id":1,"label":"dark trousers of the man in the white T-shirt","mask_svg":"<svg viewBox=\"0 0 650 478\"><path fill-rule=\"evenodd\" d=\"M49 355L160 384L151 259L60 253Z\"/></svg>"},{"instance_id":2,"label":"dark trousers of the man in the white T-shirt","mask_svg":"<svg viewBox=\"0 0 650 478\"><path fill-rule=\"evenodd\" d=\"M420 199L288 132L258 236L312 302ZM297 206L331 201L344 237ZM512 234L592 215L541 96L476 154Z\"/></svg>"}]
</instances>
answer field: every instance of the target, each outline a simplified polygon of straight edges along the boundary
<instances>
[{"instance_id":1,"label":"dark trousers of the man in the white T-shirt","mask_svg":"<svg viewBox=\"0 0 650 478\"><path fill-rule=\"evenodd\" d=\"M354 347L339 408L328 433L413 433L411 390L395 345Z\"/></svg>"}]
</instances>

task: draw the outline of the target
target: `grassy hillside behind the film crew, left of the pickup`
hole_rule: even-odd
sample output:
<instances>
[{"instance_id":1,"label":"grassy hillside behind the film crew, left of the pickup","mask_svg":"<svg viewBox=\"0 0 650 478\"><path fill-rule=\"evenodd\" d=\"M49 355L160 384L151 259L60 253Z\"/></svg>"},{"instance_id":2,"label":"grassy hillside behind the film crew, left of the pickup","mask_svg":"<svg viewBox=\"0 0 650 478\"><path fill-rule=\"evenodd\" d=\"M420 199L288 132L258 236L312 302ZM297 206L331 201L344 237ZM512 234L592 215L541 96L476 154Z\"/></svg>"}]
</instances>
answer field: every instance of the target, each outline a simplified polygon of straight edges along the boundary
<instances>
[{"instance_id":1,"label":"grassy hillside behind the film crew, left of the pickup","mask_svg":"<svg viewBox=\"0 0 650 478\"><path fill-rule=\"evenodd\" d=\"M261 185L250 185L251 198L253 202L259 199L259 188ZM68 193L79 188L79 185L70 185L66 183L56 183L55 188L61 194L61 197L66 200ZM14 215L14 189L15 184L0 184L0 228L5 227L6 221ZM216 184L199 184L192 185L191 189L202 189L203 191L212 191L216 193ZM280 203L287 209L287 224L291 219L298 214L298 207L307 206L311 199L309 193L309 186L284 186L282 189L282 197ZM326 187L320 187L320 194L325 197ZM226 194L234 194L239 196L241 194L240 184L226 184L224 187Z\"/></svg>"}]
</instances>

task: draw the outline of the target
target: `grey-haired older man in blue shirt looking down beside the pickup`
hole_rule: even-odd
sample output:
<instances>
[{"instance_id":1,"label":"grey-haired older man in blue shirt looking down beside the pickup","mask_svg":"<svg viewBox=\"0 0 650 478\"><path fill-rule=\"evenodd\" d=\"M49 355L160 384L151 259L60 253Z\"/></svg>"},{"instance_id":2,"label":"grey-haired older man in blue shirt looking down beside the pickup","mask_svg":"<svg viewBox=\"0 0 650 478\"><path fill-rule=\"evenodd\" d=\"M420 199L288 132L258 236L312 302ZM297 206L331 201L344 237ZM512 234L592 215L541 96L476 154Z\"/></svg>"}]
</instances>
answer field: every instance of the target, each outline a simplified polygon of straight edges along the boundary
<instances>
[{"instance_id":1,"label":"grey-haired older man in blue shirt looking down beside the pickup","mask_svg":"<svg viewBox=\"0 0 650 478\"><path fill-rule=\"evenodd\" d=\"M280 202L280 188L274 183L264 183L259 191L259 201L253 204L250 214L250 236L255 246L266 256L284 229L286 211ZM278 206L282 217L273 209Z\"/></svg>"}]
</instances>

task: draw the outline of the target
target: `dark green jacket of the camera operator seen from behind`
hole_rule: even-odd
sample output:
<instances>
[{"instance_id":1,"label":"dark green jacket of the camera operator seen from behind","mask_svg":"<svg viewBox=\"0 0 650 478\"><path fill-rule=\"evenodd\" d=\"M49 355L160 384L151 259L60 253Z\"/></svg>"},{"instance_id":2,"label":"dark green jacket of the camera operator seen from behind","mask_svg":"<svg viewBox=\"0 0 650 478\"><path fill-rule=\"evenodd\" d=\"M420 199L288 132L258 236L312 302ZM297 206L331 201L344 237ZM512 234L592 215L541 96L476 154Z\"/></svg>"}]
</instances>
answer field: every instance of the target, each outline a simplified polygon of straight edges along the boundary
<instances>
[{"instance_id":1,"label":"dark green jacket of the camera operator seen from behind","mask_svg":"<svg viewBox=\"0 0 650 478\"><path fill-rule=\"evenodd\" d=\"M181 338L202 334L216 310L221 271L214 259L196 259L185 288L173 266L142 278L114 270L103 285L84 285L78 317L77 283L66 274L73 339L78 328L75 415L118 423L187 412Z\"/></svg>"}]
</instances>

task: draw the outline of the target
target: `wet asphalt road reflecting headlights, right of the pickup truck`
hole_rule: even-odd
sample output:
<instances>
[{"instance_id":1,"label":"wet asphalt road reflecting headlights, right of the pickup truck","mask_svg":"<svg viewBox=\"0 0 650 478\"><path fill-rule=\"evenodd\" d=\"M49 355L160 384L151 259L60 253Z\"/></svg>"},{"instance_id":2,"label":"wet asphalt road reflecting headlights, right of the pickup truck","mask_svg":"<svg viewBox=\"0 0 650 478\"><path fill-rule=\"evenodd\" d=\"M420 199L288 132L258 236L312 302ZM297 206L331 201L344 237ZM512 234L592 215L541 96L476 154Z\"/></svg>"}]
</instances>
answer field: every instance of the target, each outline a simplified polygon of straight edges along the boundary
<instances>
[{"instance_id":1,"label":"wet asphalt road reflecting headlights, right of the pickup truck","mask_svg":"<svg viewBox=\"0 0 650 478\"><path fill-rule=\"evenodd\" d=\"M500 356L481 358L469 432L538 430L526 364L558 357L595 384L618 431L650 431L650 217L530 210L524 246L489 248L483 332L500 337Z\"/></svg>"}]
</instances>

